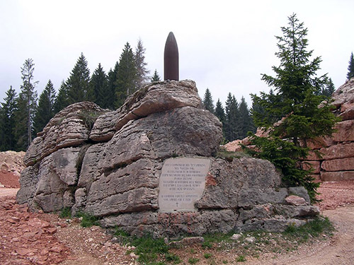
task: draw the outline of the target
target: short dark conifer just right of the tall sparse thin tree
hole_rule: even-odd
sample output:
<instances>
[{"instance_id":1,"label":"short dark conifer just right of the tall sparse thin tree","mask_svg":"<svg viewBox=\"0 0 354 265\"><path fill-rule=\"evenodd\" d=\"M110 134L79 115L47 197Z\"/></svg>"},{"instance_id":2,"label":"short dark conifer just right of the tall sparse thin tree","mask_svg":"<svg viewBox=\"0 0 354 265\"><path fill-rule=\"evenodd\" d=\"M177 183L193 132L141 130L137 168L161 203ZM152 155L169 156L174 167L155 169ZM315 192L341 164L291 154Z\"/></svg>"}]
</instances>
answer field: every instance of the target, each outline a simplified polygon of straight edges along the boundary
<instances>
[{"instance_id":1,"label":"short dark conifer just right of the tall sparse thin tree","mask_svg":"<svg viewBox=\"0 0 354 265\"><path fill-rule=\"evenodd\" d=\"M48 81L47 86L40 94L37 111L35 112L34 126L35 132L40 132L54 116L55 89L52 81Z\"/></svg>"}]
</instances>

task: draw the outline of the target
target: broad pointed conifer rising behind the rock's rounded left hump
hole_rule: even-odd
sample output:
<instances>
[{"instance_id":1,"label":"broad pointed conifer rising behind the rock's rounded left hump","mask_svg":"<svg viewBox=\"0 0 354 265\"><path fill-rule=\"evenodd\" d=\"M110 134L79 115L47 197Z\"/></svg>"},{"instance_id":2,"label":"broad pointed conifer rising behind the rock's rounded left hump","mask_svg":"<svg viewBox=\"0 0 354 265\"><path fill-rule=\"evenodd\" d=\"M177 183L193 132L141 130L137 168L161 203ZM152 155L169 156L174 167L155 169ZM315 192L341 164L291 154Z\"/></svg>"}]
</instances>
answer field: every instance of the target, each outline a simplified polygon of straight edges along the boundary
<instances>
[{"instance_id":1,"label":"broad pointed conifer rising behind the rock's rounded left hump","mask_svg":"<svg viewBox=\"0 0 354 265\"><path fill-rule=\"evenodd\" d=\"M92 98L90 91L90 70L82 52L79 59L76 61L74 69L72 69L72 73L67 79L66 86L69 104L90 100Z\"/></svg>"}]
</instances>

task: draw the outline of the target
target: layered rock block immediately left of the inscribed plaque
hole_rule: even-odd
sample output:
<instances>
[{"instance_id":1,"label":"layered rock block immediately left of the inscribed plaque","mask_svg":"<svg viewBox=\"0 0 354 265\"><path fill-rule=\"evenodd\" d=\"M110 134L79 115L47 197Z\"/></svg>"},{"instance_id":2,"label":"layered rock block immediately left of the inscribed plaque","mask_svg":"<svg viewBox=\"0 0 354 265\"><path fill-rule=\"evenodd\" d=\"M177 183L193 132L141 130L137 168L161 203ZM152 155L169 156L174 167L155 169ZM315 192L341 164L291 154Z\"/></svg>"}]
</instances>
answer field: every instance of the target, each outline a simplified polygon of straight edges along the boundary
<instances>
[{"instance_id":1,"label":"layered rock block immediately left of the inscribed plaque","mask_svg":"<svg viewBox=\"0 0 354 265\"><path fill-rule=\"evenodd\" d=\"M140 159L109 175L102 174L91 184L85 211L105 216L157 208L156 171L160 167L153 160Z\"/></svg>"}]
</instances>

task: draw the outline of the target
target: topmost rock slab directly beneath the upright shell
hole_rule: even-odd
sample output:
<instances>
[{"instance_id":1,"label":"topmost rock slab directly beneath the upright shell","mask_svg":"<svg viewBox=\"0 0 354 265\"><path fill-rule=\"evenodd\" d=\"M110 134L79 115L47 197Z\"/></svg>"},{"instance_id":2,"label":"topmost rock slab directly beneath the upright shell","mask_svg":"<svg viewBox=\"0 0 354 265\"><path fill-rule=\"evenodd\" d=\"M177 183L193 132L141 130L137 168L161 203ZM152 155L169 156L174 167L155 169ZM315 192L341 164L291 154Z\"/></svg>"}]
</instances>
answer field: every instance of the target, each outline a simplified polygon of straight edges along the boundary
<instances>
[{"instance_id":1,"label":"topmost rock slab directly beneath the upright shell","mask_svg":"<svg viewBox=\"0 0 354 265\"><path fill-rule=\"evenodd\" d=\"M200 107L200 98L195 82L191 80L152 83L127 98L119 108L117 131L132 119L164 112L180 107Z\"/></svg>"}]
</instances>

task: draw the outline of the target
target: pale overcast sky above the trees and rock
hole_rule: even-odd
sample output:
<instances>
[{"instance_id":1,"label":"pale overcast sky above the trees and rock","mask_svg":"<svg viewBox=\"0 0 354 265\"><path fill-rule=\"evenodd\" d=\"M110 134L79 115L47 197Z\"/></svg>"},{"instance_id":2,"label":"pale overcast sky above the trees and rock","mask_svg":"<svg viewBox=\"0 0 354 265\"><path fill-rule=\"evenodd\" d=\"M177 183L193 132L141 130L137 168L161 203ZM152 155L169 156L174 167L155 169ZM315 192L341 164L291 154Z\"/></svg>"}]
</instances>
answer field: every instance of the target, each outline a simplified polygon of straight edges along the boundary
<instances>
[{"instance_id":1,"label":"pale overcast sky above the trees and rock","mask_svg":"<svg viewBox=\"0 0 354 265\"><path fill-rule=\"evenodd\" d=\"M101 63L108 73L126 42L142 39L150 74L164 76L164 45L173 31L180 79L192 79L214 103L231 92L237 100L268 91L261 73L278 66L275 35L297 13L309 29L314 56L336 88L346 81L354 52L353 0L297 1L36 1L0 0L0 101L21 86L25 59L35 63L38 95L50 79L56 90L67 80L81 52L91 73Z\"/></svg>"}]
</instances>

